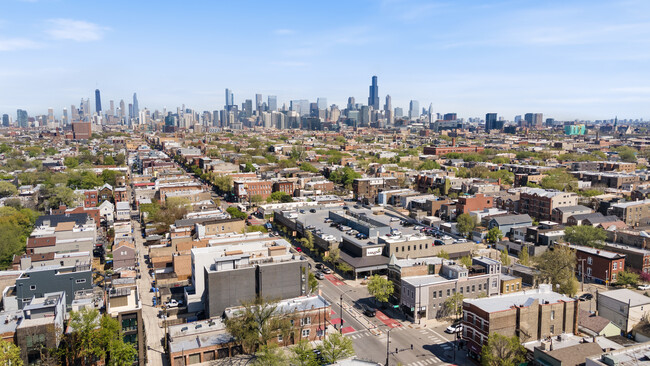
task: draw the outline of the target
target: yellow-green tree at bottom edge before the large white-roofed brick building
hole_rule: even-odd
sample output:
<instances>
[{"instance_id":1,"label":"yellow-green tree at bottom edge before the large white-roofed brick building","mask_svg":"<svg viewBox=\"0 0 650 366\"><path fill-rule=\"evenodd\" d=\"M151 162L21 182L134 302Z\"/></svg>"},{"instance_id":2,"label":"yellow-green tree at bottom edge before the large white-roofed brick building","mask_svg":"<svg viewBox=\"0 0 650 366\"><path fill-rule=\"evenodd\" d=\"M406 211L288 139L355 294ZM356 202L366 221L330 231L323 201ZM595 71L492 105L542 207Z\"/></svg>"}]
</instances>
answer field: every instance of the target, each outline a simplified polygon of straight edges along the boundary
<instances>
[{"instance_id":1,"label":"yellow-green tree at bottom edge before the large white-roofed brick building","mask_svg":"<svg viewBox=\"0 0 650 366\"><path fill-rule=\"evenodd\" d=\"M526 348L521 345L519 337L506 337L492 333L488 343L481 350L483 366L518 366L526 360Z\"/></svg>"}]
</instances>

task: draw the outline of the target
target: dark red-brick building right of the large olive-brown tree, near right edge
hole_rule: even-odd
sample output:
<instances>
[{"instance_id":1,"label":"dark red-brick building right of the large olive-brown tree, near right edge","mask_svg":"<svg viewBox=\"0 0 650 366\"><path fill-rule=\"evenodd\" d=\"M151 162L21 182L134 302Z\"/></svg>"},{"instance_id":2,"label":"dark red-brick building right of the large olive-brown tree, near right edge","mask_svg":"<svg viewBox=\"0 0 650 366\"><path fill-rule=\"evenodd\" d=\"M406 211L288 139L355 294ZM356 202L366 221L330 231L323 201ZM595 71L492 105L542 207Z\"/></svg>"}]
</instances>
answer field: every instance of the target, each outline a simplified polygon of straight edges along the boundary
<instances>
[{"instance_id":1,"label":"dark red-brick building right of the large olive-brown tree, near right edge","mask_svg":"<svg viewBox=\"0 0 650 366\"><path fill-rule=\"evenodd\" d=\"M582 278L582 269L586 281L597 283L616 282L619 272L625 270L625 254L607 250L569 245L576 251L576 276Z\"/></svg>"}]
</instances>

